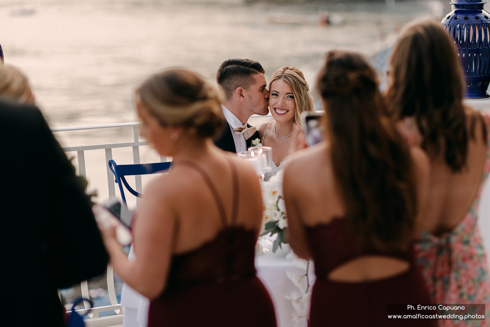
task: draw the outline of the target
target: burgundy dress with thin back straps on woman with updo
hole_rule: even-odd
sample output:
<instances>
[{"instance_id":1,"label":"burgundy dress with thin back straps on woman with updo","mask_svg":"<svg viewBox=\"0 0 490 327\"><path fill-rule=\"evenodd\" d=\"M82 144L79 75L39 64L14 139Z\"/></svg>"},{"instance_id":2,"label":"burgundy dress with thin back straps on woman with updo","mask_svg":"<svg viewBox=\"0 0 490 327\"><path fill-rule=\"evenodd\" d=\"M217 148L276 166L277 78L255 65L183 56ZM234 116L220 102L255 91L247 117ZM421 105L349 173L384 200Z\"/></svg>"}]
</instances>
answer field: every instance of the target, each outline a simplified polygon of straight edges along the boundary
<instances>
[{"instance_id":1,"label":"burgundy dress with thin back straps on woman with updo","mask_svg":"<svg viewBox=\"0 0 490 327\"><path fill-rule=\"evenodd\" d=\"M238 174L233 176L230 225L216 187L191 161L175 164L194 169L218 206L223 228L195 250L172 257L167 288L150 302L148 327L275 327L274 307L254 266L256 231L236 225Z\"/></svg>"}]
</instances>

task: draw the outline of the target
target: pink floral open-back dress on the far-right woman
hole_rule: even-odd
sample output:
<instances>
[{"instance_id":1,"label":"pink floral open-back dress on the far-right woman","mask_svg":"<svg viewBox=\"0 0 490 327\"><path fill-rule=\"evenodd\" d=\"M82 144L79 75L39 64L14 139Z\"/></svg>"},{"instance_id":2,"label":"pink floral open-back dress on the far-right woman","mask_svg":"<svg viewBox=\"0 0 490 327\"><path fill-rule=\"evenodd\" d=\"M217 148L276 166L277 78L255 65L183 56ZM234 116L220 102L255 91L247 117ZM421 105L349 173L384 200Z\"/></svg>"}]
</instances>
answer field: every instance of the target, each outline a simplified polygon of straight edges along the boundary
<instances>
[{"instance_id":1,"label":"pink floral open-back dress on the far-right woman","mask_svg":"<svg viewBox=\"0 0 490 327\"><path fill-rule=\"evenodd\" d=\"M487 128L487 155L477 194L460 222L439 236L429 232L415 243L417 265L435 303L485 304L486 320L441 321L440 326L490 326L490 280L487 255L478 227L478 206L490 172L490 117L483 114Z\"/></svg>"}]
</instances>

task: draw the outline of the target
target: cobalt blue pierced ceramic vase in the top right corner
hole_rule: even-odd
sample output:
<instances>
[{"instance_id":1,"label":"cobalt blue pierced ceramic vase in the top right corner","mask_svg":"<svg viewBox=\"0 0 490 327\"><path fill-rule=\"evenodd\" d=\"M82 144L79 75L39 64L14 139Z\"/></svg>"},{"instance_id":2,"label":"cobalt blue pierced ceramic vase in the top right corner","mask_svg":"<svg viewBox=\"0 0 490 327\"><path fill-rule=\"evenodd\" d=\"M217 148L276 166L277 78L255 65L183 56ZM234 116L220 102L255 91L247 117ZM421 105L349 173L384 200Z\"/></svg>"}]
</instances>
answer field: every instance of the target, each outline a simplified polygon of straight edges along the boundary
<instances>
[{"instance_id":1,"label":"cobalt blue pierced ceramic vase in the top right corner","mask_svg":"<svg viewBox=\"0 0 490 327\"><path fill-rule=\"evenodd\" d=\"M454 10L441 25L454 39L466 77L466 98L489 98L490 83L490 14L483 9L486 2L454 0Z\"/></svg>"}]
</instances>

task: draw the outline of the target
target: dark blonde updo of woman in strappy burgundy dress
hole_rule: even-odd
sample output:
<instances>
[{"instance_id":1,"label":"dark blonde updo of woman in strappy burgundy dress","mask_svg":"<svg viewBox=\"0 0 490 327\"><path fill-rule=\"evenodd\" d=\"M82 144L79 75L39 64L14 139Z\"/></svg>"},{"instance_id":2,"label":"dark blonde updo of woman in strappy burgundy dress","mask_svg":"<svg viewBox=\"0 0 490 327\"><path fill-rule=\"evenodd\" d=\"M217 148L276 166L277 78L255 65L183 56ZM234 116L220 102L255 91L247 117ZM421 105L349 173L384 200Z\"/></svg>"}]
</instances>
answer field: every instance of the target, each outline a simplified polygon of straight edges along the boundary
<instances>
[{"instance_id":1,"label":"dark blonde updo of woman in strappy burgundy dress","mask_svg":"<svg viewBox=\"0 0 490 327\"><path fill-rule=\"evenodd\" d=\"M184 126L200 137L215 137L224 123L216 88L187 69L150 76L136 90L136 101L162 126Z\"/></svg>"}]
</instances>

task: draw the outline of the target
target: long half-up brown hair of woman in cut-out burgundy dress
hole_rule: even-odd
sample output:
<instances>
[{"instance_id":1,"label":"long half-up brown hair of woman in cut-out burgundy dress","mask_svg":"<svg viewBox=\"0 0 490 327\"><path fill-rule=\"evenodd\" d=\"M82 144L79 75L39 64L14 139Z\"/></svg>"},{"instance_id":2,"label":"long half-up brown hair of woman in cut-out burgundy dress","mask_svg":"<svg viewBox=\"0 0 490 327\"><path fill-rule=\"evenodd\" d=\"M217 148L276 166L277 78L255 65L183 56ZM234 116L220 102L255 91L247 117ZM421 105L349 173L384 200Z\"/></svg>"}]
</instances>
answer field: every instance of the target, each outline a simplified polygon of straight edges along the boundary
<instances>
[{"instance_id":1,"label":"long half-up brown hair of woman in cut-out burgundy dress","mask_svg":"<svg viewBox=\"0 0 490 327\"><path fill-rule=\"evenodd\" d=\"M417 214L412 159L387 116L376 72L358 53L330 51L317 87L351 230L369 248L406 250Z\"/></svg>"}]
</instances>

